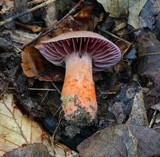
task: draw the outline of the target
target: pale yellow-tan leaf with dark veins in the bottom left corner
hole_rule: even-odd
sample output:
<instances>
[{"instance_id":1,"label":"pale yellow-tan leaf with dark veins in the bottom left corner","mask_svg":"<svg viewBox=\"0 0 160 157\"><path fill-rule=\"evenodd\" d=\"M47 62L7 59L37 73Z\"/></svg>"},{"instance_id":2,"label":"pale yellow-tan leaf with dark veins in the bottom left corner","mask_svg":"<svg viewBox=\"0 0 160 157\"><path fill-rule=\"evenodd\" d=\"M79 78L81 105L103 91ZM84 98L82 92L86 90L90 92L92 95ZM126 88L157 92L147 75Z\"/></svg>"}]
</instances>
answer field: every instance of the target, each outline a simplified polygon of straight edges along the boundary
<instances>
[{"instance_id":1,"label":"pale yellow-tan leaf with dark veins in the bottom left corner","mask_svg":"<svg viewBox=\"0 0 160 157\"><path fill-rule=\"evenodd\" d=\"M0 100L0 156L18 147L43 143L56 157L76 155L65 146L50 144L51 137L39 125L23 115L13 102L12 94L5 94Z\"/></svg>"}]
</instances>

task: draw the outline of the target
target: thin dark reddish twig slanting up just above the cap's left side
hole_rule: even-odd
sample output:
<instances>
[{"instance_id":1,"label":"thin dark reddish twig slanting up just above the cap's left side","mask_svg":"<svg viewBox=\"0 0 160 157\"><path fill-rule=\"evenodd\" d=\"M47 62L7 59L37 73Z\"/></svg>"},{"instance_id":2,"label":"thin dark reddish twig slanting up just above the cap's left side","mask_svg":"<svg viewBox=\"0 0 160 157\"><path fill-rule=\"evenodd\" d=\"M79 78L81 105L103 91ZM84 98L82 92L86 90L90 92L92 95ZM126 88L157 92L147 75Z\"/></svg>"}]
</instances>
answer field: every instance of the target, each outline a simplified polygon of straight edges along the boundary
<instances>
[{"instance_id":1,"label":"thin dark reddish twig slanting up just above the cap's left side","mask_svg":"<svg viewBox=\"0 0 160 157\"><path fill-rule=\"evenodd\" d=\"M74 11L76 11L76 9L80 6L80 4L84 2L84 0L79 0L79 2L65 15L63 16L59 21L57 21L57 23L55 24L55 26L52 26L51 28L49 28L48 30L42 31L41 33L39 33L39 35L30 43L23 45L22 49L24 49L24 47L32 44L33 42L36 42L37 40L39 40L41 37L44 37L45 35L49 34L51 31L55 30L57 28L57 26L64 20L66 19L68 16L70 16Z\"/></svg>"}]
</instances>

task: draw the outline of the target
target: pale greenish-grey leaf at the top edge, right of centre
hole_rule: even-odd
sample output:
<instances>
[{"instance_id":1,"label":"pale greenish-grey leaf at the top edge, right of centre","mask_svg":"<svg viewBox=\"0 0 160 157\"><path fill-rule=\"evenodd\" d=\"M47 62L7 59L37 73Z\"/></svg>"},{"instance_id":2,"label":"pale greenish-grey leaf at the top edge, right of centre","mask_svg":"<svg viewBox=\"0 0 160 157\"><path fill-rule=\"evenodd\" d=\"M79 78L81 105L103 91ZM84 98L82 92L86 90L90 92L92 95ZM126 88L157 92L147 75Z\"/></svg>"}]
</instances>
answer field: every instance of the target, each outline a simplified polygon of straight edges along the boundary
<instances>
[{"instance_id":1,"label":"pale greenish-grey leaf at the top edge, right of centre","mask_svg":"<svg viewBox=\"0 0 160 157\"><path fill-rule=\"evenodd\" d=\"M98 0L111 17L119 18L128 14L128 24L139 27L139 13L147 0Z\"/></svg>"}]
</instances>

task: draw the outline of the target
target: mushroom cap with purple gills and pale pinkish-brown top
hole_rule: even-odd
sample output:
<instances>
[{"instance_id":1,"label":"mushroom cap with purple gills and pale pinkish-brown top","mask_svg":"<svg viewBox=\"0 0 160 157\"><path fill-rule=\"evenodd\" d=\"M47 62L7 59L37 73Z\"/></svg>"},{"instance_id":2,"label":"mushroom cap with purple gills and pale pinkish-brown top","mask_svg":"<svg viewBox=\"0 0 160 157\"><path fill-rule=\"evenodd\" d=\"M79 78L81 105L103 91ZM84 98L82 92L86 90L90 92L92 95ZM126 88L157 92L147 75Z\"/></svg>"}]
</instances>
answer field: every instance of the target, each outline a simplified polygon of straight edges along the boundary
<instances>
[{"instance_id":1,"label":"mushroom cap with purple gills and pale pinkish-brown top","mask_svg":"<svg viewBox=\"0 0 160 157\"><path fill-rule=\"evenodd\" d=\"M71 53L79 57L88 53L93 70L102 71L121 59L119 48L100 34L90 31L73 31L43 41L40 53L51 63L64 66L65 58Z\"/></svg>"}]
</instances>

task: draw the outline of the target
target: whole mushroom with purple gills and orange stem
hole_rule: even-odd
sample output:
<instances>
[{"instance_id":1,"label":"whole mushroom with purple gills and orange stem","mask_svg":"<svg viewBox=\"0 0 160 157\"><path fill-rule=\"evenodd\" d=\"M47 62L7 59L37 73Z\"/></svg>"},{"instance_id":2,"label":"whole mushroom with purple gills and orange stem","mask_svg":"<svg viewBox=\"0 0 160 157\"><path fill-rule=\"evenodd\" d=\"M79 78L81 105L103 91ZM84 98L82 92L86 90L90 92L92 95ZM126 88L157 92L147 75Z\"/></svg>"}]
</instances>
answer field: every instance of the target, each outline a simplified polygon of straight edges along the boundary
<instances>
[{"instance_id":1,"label":"whole mushroom with purple gills and orange stem","mask_svg":"<svg viewBox=\"0 0 160 157\"><path fill-rule=\"evenodd\" d=\"M119 48L105 37L90 31L73 31L42 42L41 54L51 63L66 67L61 93L64 117L74 124L90 123L97 112L94 71L115 65Z\"/></svg>"}]
</instances>

